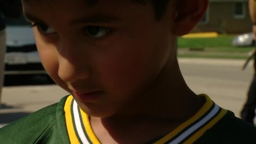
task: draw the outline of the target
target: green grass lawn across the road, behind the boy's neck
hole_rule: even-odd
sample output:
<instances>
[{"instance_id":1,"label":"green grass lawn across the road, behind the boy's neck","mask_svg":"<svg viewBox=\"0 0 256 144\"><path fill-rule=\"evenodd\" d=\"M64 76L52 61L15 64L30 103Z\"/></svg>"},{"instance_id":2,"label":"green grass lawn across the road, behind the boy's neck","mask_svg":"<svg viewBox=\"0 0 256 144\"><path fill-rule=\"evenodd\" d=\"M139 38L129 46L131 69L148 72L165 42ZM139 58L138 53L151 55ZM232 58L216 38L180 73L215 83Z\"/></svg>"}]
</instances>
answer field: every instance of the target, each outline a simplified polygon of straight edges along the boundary
<instances>
[{"instance_id":1,"label":"green grass lawn across the road, behind the boy's neck","mask_svg":"<svg viewBox=\"0 0 256 144\"><path fill-rule=\"evenodd\" d=\"M234 36L219 35L213 38L178 38L179 57L246 59L254 47L235 47Z\"/></svg>"}]
</instances>

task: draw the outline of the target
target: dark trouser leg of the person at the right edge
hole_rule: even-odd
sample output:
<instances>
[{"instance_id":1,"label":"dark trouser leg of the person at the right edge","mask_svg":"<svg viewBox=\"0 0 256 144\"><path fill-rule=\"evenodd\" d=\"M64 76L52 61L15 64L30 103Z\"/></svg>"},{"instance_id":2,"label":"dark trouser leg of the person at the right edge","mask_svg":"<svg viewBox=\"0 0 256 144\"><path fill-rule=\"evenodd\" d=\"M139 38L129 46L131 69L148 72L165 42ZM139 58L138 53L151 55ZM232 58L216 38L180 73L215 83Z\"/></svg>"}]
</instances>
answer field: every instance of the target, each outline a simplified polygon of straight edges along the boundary
<instances>
[{"instance_id":1,"label":"dark trouser leg of the person at the right edge","mask_svg":"<svg viewBox=\"0 0 256 144\"><path fill-rule=\"evenodd\" d=\"M241 118L251 124L253 124L253 119L255 117L256 108L256 74L254 74L250 89L247 94L247 101L241 111Z\"/></svg>"}]
</instances>

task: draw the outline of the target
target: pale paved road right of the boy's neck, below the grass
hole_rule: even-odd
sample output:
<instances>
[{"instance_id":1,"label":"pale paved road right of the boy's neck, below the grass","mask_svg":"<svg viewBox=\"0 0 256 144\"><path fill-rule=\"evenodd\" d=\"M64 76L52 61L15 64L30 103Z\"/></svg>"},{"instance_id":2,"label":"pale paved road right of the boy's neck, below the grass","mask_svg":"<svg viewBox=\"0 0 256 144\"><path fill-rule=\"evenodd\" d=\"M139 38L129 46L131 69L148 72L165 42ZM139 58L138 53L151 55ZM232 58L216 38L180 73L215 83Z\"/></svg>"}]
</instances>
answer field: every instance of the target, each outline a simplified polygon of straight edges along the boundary
<instances>
[{"instance_id":1,"label":"pale paved road right of the boy's neck, below the grass","mask_svg":"<svg viewBox=\"0 0 256 144\"><path fill-rule=\"evenodd\" d=\"M234 111L239 117L253 76L252 62L245 70L241 70L243 60L180 59L179 62L194 92L206 93L219 106Z\"/></svg>"}]
</instances>

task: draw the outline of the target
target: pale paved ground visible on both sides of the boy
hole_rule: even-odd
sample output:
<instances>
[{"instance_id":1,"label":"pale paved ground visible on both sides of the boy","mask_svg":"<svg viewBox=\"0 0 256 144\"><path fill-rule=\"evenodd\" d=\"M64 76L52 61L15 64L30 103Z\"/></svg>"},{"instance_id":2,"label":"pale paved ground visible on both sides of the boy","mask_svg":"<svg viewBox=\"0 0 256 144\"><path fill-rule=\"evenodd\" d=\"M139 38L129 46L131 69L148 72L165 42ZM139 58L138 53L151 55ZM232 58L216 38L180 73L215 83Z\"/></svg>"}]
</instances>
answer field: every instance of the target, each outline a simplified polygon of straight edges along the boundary
<instances>
[{"instance_id":1,"label":"pale paved ground visible on both sides of the boy","mask_svg":"<svg viewBox=\"0 0 256 144\"><path fill-rule=\"evenodd\" d=\"M241 70L243 60L179 59L181 71L195 93L206 93L221 107L239 110L246 98L252 68ZM4 87L0 126L10 123L68 94L57 85Z\"/></svg>"}]
</instances>

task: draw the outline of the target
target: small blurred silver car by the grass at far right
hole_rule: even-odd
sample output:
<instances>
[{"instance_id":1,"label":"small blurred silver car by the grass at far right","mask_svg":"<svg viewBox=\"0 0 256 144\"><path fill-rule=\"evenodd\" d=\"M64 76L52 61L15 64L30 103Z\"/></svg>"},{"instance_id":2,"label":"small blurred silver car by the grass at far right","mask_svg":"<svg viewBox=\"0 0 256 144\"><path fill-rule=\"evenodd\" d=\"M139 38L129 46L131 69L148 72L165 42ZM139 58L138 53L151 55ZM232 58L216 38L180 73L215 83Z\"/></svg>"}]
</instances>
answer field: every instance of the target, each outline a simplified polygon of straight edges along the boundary
<instances>
[{"instance_id":1,"label":"small blurred silver car by the grass at far right","mask_svg":"<svg viewBox=\"0 0 256 144\"><path fill-rule=\"evenodd\" d=\"M253 46L255 41L252 33L245 33L235 36L232 42L233 46Z\"/></svg>"}]
</instances>

